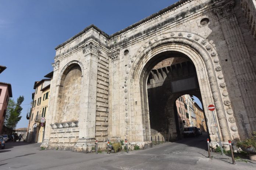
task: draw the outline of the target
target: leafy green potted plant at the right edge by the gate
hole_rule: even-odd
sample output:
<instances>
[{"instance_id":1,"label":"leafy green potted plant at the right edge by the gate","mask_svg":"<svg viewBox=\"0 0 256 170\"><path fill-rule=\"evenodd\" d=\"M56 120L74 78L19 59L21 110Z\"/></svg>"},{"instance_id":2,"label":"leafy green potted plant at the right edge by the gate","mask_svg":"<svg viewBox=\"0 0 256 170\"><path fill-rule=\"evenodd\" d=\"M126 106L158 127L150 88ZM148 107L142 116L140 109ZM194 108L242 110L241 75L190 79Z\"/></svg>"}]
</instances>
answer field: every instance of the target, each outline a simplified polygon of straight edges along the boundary
<instances>
[{"instance_id":1,"label":"leafy green potted plant at the right edge by the gate","mask_svg":"<svg viewBox=\"0 0 256 170\"><path fill-rule=\"evenodd\" d=\"M237 146L243 151L248 152L250 160L256 159L256 131L252 132L252 137L247 138L243 141L239 141Z\"/></svg>"}]
</instances>

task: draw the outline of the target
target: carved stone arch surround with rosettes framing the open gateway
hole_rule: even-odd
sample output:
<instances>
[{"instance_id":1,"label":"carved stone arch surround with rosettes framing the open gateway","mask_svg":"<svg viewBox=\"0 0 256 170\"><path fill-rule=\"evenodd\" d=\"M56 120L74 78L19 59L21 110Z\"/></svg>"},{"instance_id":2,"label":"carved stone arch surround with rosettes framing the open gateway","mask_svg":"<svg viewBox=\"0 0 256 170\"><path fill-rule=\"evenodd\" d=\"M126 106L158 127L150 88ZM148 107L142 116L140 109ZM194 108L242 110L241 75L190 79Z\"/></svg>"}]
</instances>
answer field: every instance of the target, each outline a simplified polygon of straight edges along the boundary
<instances>
[{"instance_id":1,"label":"carved stone arch surround with rosettes framing the open gateway","mask_svg":"<svg viewBox=\"0 0 256 170\"><path fill-rule=\"evenodd\" d=\"M124 80L125 102L129 100L129 105L125 106L126 135L134 139L135 134L135 141L138 142L150 141L147 90L145 89L146 80L144 75L147 67L149 67L149 60L166 51L182 53L188 56L195 65L211 140L216 141L217 139L213 115L206 109L212 103L216 106L217 114L215 117L218 120L216 123L218 129L220 129L221 139L227 141L238 138L237 126L229 126L227 122L233 111L227 90L219 88L219 85L221 86L225 82L216 49L205 38L187 32L171 32L154 37L146 42L130 60L126 70L127 76Z\"/></svg>"}]
</instances>

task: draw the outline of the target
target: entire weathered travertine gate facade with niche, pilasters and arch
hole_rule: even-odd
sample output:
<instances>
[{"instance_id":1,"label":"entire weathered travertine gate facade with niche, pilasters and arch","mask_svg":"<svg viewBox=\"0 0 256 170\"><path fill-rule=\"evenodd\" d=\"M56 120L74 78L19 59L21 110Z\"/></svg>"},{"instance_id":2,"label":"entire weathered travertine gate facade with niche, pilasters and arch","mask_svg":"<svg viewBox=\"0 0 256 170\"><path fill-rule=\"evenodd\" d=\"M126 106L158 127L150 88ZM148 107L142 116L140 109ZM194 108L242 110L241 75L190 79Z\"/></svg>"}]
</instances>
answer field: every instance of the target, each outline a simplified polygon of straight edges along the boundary
<instances>
[{"instance_id":1,"label":"entire weathered travertine gate facade with niche, pilasters and arch","mask_svg":"<svg viewBox=\"0 0 256 170\"><path fill-rule=\"evenodd\" d=\"M104 148L107 139L126 137L147 147L147 79L157 63L172 57L194 65L198 88L189 90L203 102L211 141L217 140L216 126L224 142L249 136L256 130L255 4L181 0L111 36L91 25L59 45L42 146L87 152L96 139ZM182 95L182 81L171 81L166 100ZM164 107L174 114L173 106Z\"/></svg>"}]
</instances>

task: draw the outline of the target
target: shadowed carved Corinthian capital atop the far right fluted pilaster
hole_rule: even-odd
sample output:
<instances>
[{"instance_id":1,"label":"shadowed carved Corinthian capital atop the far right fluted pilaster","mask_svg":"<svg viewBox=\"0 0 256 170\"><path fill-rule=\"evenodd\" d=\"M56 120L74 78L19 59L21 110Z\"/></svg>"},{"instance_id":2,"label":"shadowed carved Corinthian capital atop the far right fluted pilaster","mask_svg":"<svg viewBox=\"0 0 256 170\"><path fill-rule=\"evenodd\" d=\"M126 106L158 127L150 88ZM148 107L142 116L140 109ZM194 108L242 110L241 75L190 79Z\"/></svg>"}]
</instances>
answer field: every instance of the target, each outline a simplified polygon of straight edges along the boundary
<instances>
[{"instance_id":1,"label":"shadowed carved Corinthian capital atop the far right fluted pilaster","mask_svg":"<svg viewBox=\"0 0 256 170\"><path fill-rule=\"evenodd\" d=\"M227 1L220 5L217 5L213 11L218 16L218 19L225 18L231 14L234 14L234 9L233 9L234 5L235 5L234 0Z\"/></svg>"}]
</instances>

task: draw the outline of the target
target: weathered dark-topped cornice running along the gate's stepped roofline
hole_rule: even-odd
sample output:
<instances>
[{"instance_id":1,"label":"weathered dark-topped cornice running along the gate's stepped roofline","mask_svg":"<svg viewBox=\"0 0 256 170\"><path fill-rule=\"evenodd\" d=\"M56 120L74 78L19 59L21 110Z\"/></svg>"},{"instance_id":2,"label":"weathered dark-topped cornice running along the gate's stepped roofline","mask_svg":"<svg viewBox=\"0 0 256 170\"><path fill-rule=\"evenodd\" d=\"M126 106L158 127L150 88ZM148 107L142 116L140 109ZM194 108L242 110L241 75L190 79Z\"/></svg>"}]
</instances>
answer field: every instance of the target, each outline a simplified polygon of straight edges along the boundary
<instances>
[{"instance_id":1,"label":"weathered dark-topped cornice running along the gate's stepped roofline","mask_svg":"<svg viewBox=\"0 0 256 170\"><path fill-rule=\"evenodd\" d=\"M103 32L103 31L100 30L98 27L96 27L95 25L92 24L92 25L86 27L85 29L83 29L81 32L79 32L79 33L76 34L75 36L73 36L72 38L70 38L69 40L67 40L67 41L63 42L62 44L58 45L58 46L55 48L55 50L57 50L58 48L63 47L64 45L66 45L66 44L72 42L72 41L75 40L77 37L81 36L82 34L88 32L88 31L91 30L91 29L96 30L97 32L99 32L100 34L102 34L102 35L103 35L104 37L106 37L107 39L110 39L110 38L112 38L112 37L114 37L114 36L117 36L118 34L124 33L124 32L126 32L126 31L128 31L128 30L130 30L130 29L133 29L133 28L135 28L135 27L141 25L142 23L145 23L145 22L149 21L150 19L153 19L153 18L155 18L155 17L157 17L157 16L159 16L159 15L161 15L161 14L164 14L165 12L168 12L168 11L170 11L170 10L179 8L179 7L182 6L183 4L189 3L190 1L193 1L193 0L179 0L178 2L174 3L173 5L170 5L169 7L166 7L166 8L164 8L163 10L160 10L159 12L156 12L156 13L154 13L154 14L148 16L147 18L142 19L141 21L136 22L136 23L134 23L134 24L131 25L131 26L128 26L128 27L126 27L125 29L122 29L122 30L120 30L119 32L116 32L116 33L112 34L111 36L109 36L108 34L106 34L105 32Z\"/></svg>"}]
</instances>

